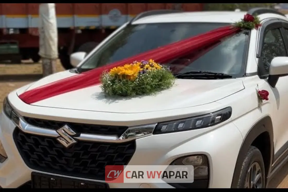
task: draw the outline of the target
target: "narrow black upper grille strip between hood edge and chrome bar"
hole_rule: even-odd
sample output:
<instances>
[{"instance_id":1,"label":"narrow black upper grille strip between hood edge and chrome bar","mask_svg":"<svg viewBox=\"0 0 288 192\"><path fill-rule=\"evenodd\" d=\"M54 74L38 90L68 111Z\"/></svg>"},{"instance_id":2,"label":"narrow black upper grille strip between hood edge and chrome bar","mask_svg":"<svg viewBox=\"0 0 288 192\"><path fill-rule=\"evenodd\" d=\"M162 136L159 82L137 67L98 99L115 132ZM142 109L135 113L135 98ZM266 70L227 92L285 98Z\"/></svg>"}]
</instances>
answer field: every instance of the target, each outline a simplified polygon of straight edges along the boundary
<instances>
[{"instance_id":1,"label":"narrow black upper grille strip between hood edge and chrome bar","mask_svg":"<svg viewBox=\"0 0 288 192\"><path fill-rule=\"evenodd\" d=\"M52 121L45 119L35 119L31 117L24 117L25 121L29 125L57 130L64 125L68 125L76 133L87 133L87 134L101 134L101 135L117 135L120 137L127 129L126 126L109 126L109 125L94 125L94 124L83 124L83 123L71 123L63 121Z\"/></svg>"}]
</instances>

